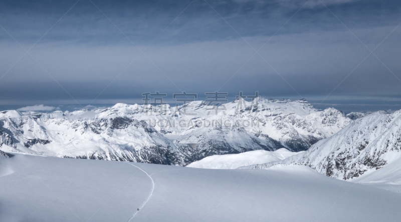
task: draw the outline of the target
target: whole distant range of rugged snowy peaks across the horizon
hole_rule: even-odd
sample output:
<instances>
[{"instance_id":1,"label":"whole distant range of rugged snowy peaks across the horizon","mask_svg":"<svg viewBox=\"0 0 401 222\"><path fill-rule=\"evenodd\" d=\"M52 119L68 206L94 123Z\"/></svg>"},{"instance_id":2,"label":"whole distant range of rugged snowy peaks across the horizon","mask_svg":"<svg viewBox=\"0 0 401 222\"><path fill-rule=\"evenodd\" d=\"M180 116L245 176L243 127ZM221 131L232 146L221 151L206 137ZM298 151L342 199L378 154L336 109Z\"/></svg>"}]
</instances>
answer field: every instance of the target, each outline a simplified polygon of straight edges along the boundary
<instances>
[{"instance_id":1,"label":"whole distant range of rugged snowy peaks across the horizon","mask_svg":"<svg viewBox=\"0 0 401 222\"><path fill-rule=\"evenodd\" d=\"M186 165L215 154L306 150L352 121L334 108L315 109L305 99L257 101L238 98L219 107L193 101L177 107L117 103L72 112L2 111L0 148Z\"/></svg>"}]
</instances>

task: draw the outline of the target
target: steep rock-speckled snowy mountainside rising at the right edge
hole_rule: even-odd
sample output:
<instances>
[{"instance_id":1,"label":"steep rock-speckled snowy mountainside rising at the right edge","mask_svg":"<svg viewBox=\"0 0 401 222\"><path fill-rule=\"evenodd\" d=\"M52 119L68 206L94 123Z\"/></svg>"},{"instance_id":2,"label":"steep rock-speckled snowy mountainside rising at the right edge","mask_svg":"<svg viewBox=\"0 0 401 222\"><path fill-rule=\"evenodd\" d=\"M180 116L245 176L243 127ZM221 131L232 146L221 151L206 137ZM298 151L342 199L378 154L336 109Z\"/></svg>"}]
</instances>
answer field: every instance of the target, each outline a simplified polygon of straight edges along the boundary
<instances>
[{"instance_id":1,"label":"steep rock-speckled snowy mountainside rising at the right edge","mask_svg":"<svg viewBox=\"0 0 401 222\"><path fill-rule=\"evenodd\" d=\"M327 176L344 180L361 179L369 174L376 177L392 175L394 167L385 166L401 165L401 110L371 113L351 122L333 136L318 141L304 153L275 163L243 168L294 163L309 165ZM383 166L385 169L380 169ZM380 173L374 173L379 170Z\"/></svg>"}]
</instances>

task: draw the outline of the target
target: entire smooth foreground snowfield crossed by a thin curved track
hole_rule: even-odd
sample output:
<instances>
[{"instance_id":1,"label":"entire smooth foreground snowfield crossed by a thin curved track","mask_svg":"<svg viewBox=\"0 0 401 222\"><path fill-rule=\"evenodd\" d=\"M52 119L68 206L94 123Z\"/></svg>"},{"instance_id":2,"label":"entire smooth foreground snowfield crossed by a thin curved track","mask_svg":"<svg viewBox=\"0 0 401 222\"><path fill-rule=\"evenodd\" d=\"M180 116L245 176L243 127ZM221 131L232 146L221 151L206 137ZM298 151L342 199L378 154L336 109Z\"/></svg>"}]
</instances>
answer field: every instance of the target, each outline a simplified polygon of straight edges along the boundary
<instances>
[{"instance_id":1,"label":"entire smooth foreground snowfield crossed by a thin curved track","mask_svg":"<svg viewBox=\"0 0 401 222\"><path fill-rule=\"evenodd\" d=\"M400 194L299 165L267 170L132 163L134 167L119 161L22 154L0 161L14 170L0 177L0 221L125 222L145 201L131 221L401 218Z\"/></svg>"}]
</instances>

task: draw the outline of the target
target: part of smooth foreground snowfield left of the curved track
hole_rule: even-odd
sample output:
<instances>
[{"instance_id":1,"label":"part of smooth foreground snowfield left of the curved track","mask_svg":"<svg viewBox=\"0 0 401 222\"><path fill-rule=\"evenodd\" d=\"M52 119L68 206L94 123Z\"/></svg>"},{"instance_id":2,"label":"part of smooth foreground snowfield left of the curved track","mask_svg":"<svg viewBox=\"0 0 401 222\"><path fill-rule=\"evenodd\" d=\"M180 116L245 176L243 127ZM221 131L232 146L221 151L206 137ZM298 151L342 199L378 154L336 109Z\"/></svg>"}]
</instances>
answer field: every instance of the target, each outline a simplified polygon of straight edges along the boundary
<instances>
[{"instance_id":1,"label":"part of smooth foreground snowfield left of the curved track","mask_svg":"<svg viewBox=\"0 0 401 222\"><path fill-rule=\"evenodd\" d=\"M127 221L151 190L123 162L15 154L0 164L14 171L0 177L0 221Z\"/></svg>"}]
</instances>

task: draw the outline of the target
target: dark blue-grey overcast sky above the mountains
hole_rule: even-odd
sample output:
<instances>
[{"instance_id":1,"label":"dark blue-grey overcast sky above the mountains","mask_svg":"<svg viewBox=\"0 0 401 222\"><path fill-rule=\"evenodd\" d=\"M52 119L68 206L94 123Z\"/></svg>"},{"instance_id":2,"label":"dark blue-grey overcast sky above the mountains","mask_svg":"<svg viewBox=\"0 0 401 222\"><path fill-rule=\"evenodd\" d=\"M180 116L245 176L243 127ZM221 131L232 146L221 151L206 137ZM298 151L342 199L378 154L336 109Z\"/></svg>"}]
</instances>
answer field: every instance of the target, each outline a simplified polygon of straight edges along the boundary
<instances>
[{"instance_id":1,"label":"dark blue-grey overcast sky above the mountains","mask_svg":"<svg viewBox=\"0 0 401 222\"><path fill-rule=\"evenodd\" d=\"M219 90L401 108L398 0L92 2L0 2L0 105Z\"/></svg>"}]
</instances>

